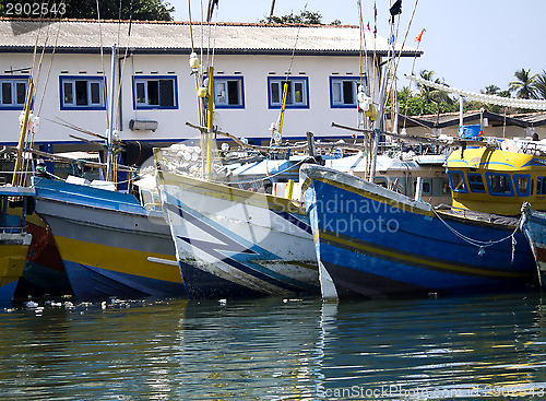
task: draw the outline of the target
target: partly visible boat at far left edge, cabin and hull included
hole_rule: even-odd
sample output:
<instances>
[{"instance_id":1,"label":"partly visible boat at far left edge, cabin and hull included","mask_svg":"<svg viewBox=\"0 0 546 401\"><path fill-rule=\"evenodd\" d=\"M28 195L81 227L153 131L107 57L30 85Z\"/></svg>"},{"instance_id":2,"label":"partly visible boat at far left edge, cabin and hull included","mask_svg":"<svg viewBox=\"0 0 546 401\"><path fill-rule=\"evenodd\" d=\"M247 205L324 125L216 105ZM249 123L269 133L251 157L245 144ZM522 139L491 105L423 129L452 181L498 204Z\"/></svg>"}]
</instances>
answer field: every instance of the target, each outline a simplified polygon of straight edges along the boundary
<instances>
[{"instance_id":1,"label":"partly visible boat at far left edge, cabin and hull included","mask_svg":"<svg viewBox=\"0 0 546 401\"><path fill-rule=\"evenodd\" d=\"M34 190L23 187L0 187L0 307L11 305L28 253L32 235L26 232L28 202ZM9 203L15 202L20 214L9 214ZM13 208L10 208L12 211Z\"/></svg>"}]
</instances>

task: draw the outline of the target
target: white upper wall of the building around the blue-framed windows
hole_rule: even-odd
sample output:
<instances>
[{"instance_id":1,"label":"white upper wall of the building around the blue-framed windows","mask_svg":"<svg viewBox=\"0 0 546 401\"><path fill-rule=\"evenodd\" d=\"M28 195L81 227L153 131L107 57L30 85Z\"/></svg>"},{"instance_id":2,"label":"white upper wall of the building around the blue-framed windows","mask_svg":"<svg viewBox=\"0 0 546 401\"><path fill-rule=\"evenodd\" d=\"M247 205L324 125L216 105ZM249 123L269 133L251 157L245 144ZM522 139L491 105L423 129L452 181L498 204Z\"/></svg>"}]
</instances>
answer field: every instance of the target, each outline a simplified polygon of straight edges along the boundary
<instances>
[{"instance_id":1,"label":"white upper wall of the building around the blue-framed windows","mask_svg":"<svg viewBox=\"0 0 546 401\"><path fill-rule=\"evenodd\" d=\"M122 56L120 54L119 56ZM180 55L133 55L120 61L122 68L120 90L120 138L122 140L143 141L179 141L198 137L195 129L186 122L198 123L198 99L195 80L190 75L189 57ZM17 70L32 66L33 56L28 54L3 54L0 58L1 71ZM97 140L76 132L54 121L61 120L75 125L97 134L105 134L107 128L107 110L64 110L60 107L59 76L106 76L107 90L110 86L110 50L100 55L56 54L45 55L41 61L37 83L35 113L40 116L39 130L35 134L36 143L75 143L69 134ZM38 61L36 61L38 64ZM215 76L242 76L245 92L244 109L215 109L215 125L221 130L250 140L268 139L270 126L277 121L278 109L268 107L268 76L284 76L290 66L289 56L224 56L214 59ZM49 78L48 69L50 68ZM284 138L305 138L312 131L318 138L349 137L351 132L331 127L331 122L356 127L356 108L332 108L330 104L330 76L357 76L359 60L357 57L295 57L292 62L292 76L308 76L309 108L287 109L284 116ZM2 76L9 74L0 73ZM176 75L176 109L145 109L133 107L133 76ZM47 84L46 84L47 83ZM378 85L373 85L377 87ZM376 96L377 97L377 96ZM2 134L0 143L13 144L19 140L19 117L21 110L0 110ZM121 116L119 118L119 116ZM155 120L157 130L131 131L129 121ZM80 142L81 143L81 142Z\"/></svg>"}]
</instances>

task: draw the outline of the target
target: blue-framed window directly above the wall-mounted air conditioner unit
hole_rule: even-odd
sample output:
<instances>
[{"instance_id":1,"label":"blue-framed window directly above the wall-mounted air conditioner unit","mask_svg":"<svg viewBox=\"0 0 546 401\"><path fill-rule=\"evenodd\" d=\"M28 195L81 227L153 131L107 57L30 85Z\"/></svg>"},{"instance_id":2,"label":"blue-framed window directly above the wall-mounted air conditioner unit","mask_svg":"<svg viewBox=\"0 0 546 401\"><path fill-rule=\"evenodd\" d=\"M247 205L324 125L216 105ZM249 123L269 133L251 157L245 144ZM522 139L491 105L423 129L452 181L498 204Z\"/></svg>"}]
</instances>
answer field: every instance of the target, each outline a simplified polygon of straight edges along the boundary
<instances>
[{"instance_id":1,"label":"blue-framed window directly above the wall-mounted air conditioner unit","mask_svg":"<svg viewBox=\"0 0 546 401\"><path fill-rule=\"evenodd\" d=\"M176 75L133 76L133 109L176 109Z\"/></svg>"}]
</instances>

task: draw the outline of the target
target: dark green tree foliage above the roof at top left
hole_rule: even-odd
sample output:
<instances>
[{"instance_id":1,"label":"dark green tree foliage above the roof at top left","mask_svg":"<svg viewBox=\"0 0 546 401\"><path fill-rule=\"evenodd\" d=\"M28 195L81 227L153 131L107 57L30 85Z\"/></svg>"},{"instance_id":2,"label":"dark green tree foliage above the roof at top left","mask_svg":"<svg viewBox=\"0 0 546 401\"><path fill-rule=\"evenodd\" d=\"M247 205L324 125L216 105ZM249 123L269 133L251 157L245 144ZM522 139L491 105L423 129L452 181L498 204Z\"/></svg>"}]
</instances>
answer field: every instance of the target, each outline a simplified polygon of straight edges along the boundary
<instances>
[{"instance_id":1,"label":"dark green tree foliage above the roof at top left","mask_svg":"<svg viewBox=\"0 0 546 401\"><path fill-rule=\"evenodd\" d=\"M33 16L39 17L39 14L31 15L7 15L8 2L10 3L29 3L38 2L37 0L0 0L0 15L2 16ZM47 3L47 0L44 0ZM92 19L96 20L97 16L97 1L96 0L50 0L49 3L64 3L62 8L64 13L56 15L47 15L49 17L68 17L68 19ZM121 5L121 15L120 15ZM132 15L133 21L173 21L170 13L175 8L162 0L99 0L98 7L100 10L100 19L103 20L129 20ZM131 11L132 8L132 11ZM29 9L28 7L26 8ZM60 9L59 9L60 10Z\"/></svg>"}]
</instances>

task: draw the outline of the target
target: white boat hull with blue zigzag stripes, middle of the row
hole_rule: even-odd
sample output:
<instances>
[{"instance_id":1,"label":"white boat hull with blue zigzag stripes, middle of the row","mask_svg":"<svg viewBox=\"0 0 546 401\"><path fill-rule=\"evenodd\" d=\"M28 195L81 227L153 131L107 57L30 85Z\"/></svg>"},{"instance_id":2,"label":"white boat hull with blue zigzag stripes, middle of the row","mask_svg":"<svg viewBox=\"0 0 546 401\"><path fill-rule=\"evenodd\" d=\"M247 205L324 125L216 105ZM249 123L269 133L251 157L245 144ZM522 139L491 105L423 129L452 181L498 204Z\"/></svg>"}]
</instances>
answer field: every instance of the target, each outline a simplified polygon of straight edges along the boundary
<instances>
[{"instance_id":1,"label":"white boat hull with blue zigzag stripes, middle of the row","mask_svg":"<svg viewBox=\"0 0 546 401\"><path fill-rule=\"evenodd\" d=\"M197 178L162 177L162 203L191 297L319 293L302 208Z\"/></svg>"}]
</instances>

